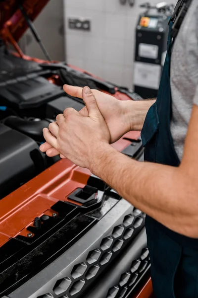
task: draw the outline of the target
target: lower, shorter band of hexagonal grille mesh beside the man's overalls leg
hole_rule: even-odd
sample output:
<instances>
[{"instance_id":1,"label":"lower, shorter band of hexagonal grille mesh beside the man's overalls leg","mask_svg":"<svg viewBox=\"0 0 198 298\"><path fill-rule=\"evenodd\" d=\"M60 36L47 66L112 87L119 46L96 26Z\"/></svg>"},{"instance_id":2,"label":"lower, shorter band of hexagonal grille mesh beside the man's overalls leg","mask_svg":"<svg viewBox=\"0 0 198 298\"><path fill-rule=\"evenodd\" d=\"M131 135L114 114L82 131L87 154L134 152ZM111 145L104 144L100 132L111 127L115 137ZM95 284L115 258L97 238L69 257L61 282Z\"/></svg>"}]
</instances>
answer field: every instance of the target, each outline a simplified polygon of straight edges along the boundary
<instances>
[{"instance_id":1,"label":"lower, shorter band of hexagonal grille mesh beside the man's overalls leg","mask_svg":"<svg viewBox=\"0 0 198 298\"><path fill-rule=\"evenodd\" d=\"M110 288L106 298L124 298L149 267L148 248L143 249L140 258L133 261L130 271L123 273L118 285Z\"/></svg>"}]
</instances>

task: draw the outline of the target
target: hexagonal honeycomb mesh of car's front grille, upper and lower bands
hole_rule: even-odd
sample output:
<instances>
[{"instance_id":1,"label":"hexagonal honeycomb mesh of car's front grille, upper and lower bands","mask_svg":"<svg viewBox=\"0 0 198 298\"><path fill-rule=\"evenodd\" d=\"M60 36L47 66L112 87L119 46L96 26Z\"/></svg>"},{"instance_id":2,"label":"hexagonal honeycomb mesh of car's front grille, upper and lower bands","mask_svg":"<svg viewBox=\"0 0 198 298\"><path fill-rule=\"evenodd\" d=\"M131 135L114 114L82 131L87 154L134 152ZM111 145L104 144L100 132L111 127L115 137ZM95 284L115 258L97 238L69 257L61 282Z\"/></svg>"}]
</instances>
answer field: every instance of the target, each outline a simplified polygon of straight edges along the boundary
<instances>
[{"instance_id":1,"label":"hexagonal honeycomb mesh of car's front grille, upper and lower bands","mask_svg":"<svg viewBox=\"0 0 198 298\"><path fill-rule=\"evenodd\" d=\"M112 233L101 239L98 247L90 251L85 260L75 264L67 276L56 281L53 292L38 298L80 298L82 291L86 290L94 282L99 273L108 266L121 249L129 242L144 226L144 214L134 209L123 221L114 226ZM123 298L128 285L134 284L140 274L149 265L148 249L143 250L141 257L133 262L131 270L122 274L119 285L111 288L108 298ZM142 272L139 272L139 270Z\"/></svg>"}]
</instances>

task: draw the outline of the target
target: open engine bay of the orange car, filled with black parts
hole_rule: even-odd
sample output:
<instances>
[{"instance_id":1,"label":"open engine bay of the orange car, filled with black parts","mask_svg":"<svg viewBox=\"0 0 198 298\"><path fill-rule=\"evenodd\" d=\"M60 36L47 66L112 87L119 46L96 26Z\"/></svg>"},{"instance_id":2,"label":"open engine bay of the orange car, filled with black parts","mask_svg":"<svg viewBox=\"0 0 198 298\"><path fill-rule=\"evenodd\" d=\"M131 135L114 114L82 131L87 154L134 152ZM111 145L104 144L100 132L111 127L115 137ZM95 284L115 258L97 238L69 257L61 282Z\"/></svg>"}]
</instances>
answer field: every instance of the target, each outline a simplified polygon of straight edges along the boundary
<instances>
[{"instance_id":1,"label":"open engine bay of the orange car, filled with black parts","mask_svg":"<svg viewBox=\"0 0 198 298\"><path fill-rule=\"evenodd\" d=\"M57 162L39 150L43 128L68 107L80 111L81 99L63 84L103 90L120 99L140 97L65 63L38 63L10 52L0 40L0 199Z\"/></svg>"}]
</instances>

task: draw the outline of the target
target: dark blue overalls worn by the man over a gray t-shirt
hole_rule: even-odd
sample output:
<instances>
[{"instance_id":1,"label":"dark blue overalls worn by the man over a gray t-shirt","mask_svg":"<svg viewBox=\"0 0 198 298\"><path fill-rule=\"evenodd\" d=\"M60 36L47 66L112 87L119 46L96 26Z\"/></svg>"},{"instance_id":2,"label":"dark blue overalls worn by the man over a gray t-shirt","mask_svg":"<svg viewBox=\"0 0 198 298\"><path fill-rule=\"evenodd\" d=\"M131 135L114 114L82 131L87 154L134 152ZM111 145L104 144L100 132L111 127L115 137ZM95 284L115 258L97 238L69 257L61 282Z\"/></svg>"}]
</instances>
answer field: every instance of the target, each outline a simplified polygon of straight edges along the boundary
<instances>
[{"instance_id":1,"label":"dark blue overalls worn by the man over a gray t-shirt","mask_svg":"<svg viewBox=\"0 0 198 298\"><path fill-rule=\"evenodd\" d=\"M158 97L148 111L142 140L145 146L145 160L179 166L180 160L170 132L172 25L171 21ZM198 239L173 232L148 216L146 229L155 297L198 298Z\"/></svg>"}]
</instances>

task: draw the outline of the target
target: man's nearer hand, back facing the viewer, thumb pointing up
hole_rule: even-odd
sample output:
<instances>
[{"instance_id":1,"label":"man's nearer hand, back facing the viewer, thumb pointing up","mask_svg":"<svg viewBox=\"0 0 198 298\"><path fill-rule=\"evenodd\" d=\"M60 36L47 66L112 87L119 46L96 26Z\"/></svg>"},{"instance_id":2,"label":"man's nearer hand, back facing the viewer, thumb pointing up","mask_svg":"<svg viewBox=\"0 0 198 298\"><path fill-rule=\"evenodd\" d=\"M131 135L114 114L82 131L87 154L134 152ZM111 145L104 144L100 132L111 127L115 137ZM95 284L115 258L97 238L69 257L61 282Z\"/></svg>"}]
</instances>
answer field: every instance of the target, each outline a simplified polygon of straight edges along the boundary
<instances>
[{"instance_id":1,"label":"man's nearer hand, back facing the viewer, thumb pointing up","mask_svg":"<svg viewBox=\"0 0 198 298\"><path fill-rule=\"evenodd\" d=\"M83 99L87 108L85 115L72 108L66 109L64 114L56 117L56 122L49 124L49 129L44 129L44 138L62 156L90 169L97 154L109 145L111 138L89 87L83 89Z\"/></svg>"}]
</instances>

